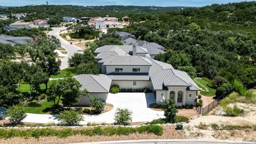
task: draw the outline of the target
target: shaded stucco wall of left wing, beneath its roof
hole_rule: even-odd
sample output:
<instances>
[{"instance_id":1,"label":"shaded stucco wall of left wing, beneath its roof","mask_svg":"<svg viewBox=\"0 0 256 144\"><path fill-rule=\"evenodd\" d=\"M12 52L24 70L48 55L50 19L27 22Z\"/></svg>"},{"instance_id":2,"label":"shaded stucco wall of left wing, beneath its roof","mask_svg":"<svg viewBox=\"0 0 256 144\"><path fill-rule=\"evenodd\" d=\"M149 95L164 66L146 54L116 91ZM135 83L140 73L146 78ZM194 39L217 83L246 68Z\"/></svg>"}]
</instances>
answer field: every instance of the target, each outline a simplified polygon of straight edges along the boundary
<instances>
[{"instance_id":1,"label":"shaded stucco wall of left wing, beneath its roof","mask_svg":"<svg viewBox=\"0 0 256 144\"><path fill-rule=\"evenodd\" d=\"M89 93L90 98L87 98L87 96L80 96L80 101L77 103L73 103L74 106L88 106L90 104L90 99L93 97L98 97L101 100L103 100L103 102L105 102L106 105L106 100L108 97L108 93Z\"/></svg>"}]
</instances>

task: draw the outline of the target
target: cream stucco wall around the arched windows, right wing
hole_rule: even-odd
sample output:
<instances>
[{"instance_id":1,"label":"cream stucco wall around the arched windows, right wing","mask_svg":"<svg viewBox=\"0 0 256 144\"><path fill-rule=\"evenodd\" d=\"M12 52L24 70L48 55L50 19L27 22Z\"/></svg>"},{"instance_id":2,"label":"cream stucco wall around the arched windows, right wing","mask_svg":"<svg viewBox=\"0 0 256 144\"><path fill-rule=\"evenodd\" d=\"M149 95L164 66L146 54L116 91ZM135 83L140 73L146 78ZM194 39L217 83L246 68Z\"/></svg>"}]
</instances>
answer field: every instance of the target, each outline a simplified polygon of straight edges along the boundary
<instances>
[{"instance_id":1,"label":"cream stucco wall around the arched windows, right wing","mask_svg":"<svg viewBox=\"0 0 256 144\"><path fill-rule=\"evenodd\" d=\"M161 94L164 93L165 99L170 98L170 92L174 91L174 97L175 97L175 103L177 106L185 106L186 104L188 105L193 105L194 101L196 99L196 91L187 91L187 87L179 87L179 86L168 86L168 90L166 91L156 91L156 103L162 104L163 103L163 98L161 97ZM178 92L182 91L183 92L183 98L182 102L177 102L178 99ZM191 97L189 97L189 93L192 94Z\"/></svg>"}]
</instances>

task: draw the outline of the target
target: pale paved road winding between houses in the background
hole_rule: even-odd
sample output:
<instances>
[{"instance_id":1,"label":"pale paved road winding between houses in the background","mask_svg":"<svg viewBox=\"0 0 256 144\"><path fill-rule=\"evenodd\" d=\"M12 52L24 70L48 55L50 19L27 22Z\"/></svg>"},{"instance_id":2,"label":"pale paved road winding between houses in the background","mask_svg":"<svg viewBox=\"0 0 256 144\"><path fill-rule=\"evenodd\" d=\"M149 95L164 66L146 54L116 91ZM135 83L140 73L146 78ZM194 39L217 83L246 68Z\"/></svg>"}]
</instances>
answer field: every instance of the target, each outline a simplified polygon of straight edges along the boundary
<instances>
[{"instance_id":1,"label":"pale paved road winding between houses in the background","mask_svg":"<svg viewBox=\"0 0 256 144\"><path fill-rule=\"evenodd\" d=\"M68 58L72 57L75 53L78 53L79 51L82 52L83 49L80 47L70 44L65 39L60 37L59 33L60 30L66 29L66 27L59 27L59 28L52 28L53 30L49 32L49 35L55 36L58 39L60 39L61 46L68 51L68 56L61 59L61 65L60 69L68 68Z\"/></svg>"}]
</instances>

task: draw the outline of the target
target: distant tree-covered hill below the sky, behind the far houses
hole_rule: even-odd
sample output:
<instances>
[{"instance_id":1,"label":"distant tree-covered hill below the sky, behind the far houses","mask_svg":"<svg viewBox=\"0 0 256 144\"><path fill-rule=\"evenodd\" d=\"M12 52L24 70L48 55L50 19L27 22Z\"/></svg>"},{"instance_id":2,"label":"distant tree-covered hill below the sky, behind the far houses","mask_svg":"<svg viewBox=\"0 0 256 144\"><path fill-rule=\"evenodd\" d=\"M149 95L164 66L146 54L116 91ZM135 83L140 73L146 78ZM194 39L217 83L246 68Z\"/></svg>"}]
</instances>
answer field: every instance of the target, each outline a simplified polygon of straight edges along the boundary
<instances>
[{"instance_id":1,"label":"distant tree-covered hill below the sky, behind the far houses","mask_svg":"<svg viewBox=\"0 0 256 144\"><path fill-rule=\"evenodd\" d=\"M107 14L110 17L121 18L129 14L143 13L161 13L167 11L180 11L186 7L158 7L158 6L77 6L77 5L35 5L35 6L20 6L20 7L5 7L0 9L0 13L29 13L25 20L31 19L46 19L61 17L105 17Z\"/></svg>"}]
</instances>

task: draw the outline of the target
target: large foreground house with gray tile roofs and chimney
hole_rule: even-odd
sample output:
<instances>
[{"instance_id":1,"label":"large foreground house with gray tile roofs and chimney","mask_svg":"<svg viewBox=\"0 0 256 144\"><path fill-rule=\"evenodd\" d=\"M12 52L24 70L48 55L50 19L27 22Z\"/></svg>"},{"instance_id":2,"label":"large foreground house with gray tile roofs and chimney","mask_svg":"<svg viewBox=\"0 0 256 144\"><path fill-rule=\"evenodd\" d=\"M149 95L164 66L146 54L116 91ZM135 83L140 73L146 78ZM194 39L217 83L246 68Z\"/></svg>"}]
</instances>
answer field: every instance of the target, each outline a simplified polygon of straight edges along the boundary
<instances>
[{"instance_id":1,"label":"large foreground house with gray tile roofs and chimney","mask_svg":"<svg viewBox=\"0 0 256 144\"><path fill-rule=\"evenodd\" d=\"M175 99L177 106L194 105L197 100L200 89L186 72L150 58L147 49L135 42L132 45L105 45L94 53L101 74L75 76L82 84L81 90L88 89L90 93L88 97L81 96L79 105L87 105L92 97L100 97L106 102L113 85L120 89L147 88L154 92L159 105L170 98Z\"/></svg>"}]
</instances>

